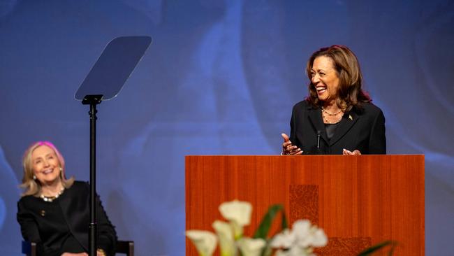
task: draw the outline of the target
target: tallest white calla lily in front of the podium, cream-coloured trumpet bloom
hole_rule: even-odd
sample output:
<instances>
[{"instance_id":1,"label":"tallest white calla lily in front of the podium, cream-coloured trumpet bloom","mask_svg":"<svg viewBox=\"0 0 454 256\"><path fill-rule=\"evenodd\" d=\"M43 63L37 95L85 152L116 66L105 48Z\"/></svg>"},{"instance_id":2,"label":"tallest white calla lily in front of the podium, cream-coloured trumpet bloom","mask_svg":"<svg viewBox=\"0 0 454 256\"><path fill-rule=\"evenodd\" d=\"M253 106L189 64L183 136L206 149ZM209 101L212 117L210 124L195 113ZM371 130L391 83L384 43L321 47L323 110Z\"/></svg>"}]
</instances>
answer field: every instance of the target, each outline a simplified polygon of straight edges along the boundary
<instances>
[{"instance_id":1,"label":"tallest white calla lily in front of the podium, cream-coloured trumpet bloom","mask_svg":"<svg viewBox=\"0 0 454 256\"><path fill-rule=\"evenodd\" d=\"M235 239L240 239L243 227L251 223L252 205L247 201L227 201L219 206L222 217L233 226Z\"/></svg>"}]
</instances>

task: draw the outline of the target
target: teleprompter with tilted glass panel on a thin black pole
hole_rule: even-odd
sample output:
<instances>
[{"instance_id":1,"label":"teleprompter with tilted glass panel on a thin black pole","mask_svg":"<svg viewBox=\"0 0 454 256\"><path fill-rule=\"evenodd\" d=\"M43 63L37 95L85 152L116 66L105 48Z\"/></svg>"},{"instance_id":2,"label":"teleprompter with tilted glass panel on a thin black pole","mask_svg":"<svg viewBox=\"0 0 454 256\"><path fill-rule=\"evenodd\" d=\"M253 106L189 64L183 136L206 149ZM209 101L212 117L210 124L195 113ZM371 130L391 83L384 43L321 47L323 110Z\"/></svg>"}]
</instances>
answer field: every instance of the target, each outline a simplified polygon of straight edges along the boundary
<instances>
[{"instance_id":1,"label":"teleprompter with tilted glass panel on a thin black pole","mask_svg":"<svg viewBox=\"0 0 454 256\"><path fill-rule=\"evenodd\" d=\"M110 41L75 93L75 99L90 106L89 256L96 256L97 250L96 105L119 94L151 42L152 38L149 36L122 36Z\"/></svg>"}]
</instances>

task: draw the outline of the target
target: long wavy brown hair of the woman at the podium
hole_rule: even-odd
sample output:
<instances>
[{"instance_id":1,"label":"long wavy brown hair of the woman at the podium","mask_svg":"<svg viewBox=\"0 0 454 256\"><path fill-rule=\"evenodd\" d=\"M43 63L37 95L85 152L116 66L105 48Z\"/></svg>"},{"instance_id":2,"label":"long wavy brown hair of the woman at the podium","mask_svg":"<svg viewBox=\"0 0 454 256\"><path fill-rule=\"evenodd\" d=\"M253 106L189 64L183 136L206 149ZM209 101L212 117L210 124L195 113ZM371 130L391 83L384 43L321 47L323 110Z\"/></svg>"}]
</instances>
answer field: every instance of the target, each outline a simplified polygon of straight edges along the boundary
<instances>
[{"instance_id":1,"label":"long wavy brown hair of the woman at the podium","mask_svg":"<svg viewBox=\"0 0 454 256\"><path fill-rule=\"evenodd\" d=\"M332 45L321 48L312 54L307 61L306 73L309 81L309 96L307 101L318 108L321 102L317 97L315 85L312 84L311 70L316 57L330 57L334 63L334 68L339 76L339 97L336 100L337 106L344 111L351 108L361 108L363 102L370 102L369 95L363 91L363 75L361 74L360 64L356 55L344 45Z\"/></svg>"}]
</instances>

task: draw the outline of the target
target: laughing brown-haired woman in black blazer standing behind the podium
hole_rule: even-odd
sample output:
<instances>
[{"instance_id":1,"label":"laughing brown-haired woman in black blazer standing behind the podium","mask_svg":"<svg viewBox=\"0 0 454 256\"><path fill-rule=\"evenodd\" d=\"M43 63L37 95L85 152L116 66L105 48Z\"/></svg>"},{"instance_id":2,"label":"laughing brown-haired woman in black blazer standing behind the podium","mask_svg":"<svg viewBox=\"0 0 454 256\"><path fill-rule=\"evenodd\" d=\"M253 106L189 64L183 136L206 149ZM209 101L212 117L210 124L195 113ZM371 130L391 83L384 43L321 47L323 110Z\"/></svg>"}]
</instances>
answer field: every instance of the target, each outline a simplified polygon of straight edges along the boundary
<instances>
[{"instance_id":1,"label":"laughing brown-haired woman in black blazer standing behind the podium","mask_svg":"<svg viewBox=\"0 0 454 256\"><path fill-rule=\"evenodd\" d=\"M385 117L363 91L356 55L332 45L306 66L309 96L293 106L282 155L386 154Z\"/></svg>"}]
</instances>

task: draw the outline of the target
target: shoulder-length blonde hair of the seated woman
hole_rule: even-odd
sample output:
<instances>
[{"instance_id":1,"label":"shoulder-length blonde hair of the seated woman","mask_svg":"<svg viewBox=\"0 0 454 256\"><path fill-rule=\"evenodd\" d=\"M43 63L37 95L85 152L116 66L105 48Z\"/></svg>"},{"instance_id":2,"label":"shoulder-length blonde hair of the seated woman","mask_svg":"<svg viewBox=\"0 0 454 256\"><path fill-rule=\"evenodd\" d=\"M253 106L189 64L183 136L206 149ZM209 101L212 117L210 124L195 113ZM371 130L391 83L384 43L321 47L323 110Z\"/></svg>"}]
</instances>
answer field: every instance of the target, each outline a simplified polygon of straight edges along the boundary
<instances>
[{"instance_id":1,"label":"shoulder-length blonde hair of the seated woman","mask_svg":"<svg viewBox=\"0 0 454 256\"><path fill-rule=\"evenodd\" d=\"M21 194L21 197L25 197L28 195L33 195L37 197L39 194L41 194L41 183L34 179L33 164L31 163L31 154L36 148L40 147L41 145L47 145L47 147L52 148L52 150L54 150L55 152L55 155L57 155L60 164L59 167L61 168L60 179L63 186L65 188L69 188L74 183L74 177L71 176L71 178L66 179L65 160L61 153L59 152L59 150L57 150L55 145L52 144L50 141L37 141L31 144L29 148L25 150L24 157L22 157L24 177L22 178L22 184L20 184L20 187L22 187L25 191L24 193Z\"/></svg>"}]
</instances>

